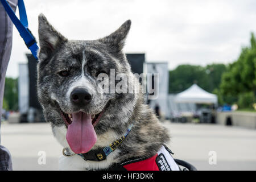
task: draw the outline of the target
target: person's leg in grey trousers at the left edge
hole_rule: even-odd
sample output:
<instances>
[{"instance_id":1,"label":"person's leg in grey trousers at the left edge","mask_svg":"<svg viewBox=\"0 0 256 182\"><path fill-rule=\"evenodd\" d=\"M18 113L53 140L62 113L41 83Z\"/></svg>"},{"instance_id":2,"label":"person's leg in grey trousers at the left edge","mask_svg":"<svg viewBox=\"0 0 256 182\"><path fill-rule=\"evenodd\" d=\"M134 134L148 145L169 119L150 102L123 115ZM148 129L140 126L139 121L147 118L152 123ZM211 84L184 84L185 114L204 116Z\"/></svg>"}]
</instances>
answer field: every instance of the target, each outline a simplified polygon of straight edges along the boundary
<instances>
[{"instance_id":1,"label":"person's leg in grey trousers at the left edge","mask_svg":"<svg viewBox=\"0 0 256 182\"><path fill-rule=\"evenodd\" d=\"M9 5L15 11L18 0L7 0ZM2 3L0 3L0 126L3 106L3 91L5 89L5 74L11 55L11 46L13 43L13 22L6 14ZM1 143L1 135L0 135ZM7 148L0 145L0 171L12 170L11 155Z\"/></svg>"}]
</instances>

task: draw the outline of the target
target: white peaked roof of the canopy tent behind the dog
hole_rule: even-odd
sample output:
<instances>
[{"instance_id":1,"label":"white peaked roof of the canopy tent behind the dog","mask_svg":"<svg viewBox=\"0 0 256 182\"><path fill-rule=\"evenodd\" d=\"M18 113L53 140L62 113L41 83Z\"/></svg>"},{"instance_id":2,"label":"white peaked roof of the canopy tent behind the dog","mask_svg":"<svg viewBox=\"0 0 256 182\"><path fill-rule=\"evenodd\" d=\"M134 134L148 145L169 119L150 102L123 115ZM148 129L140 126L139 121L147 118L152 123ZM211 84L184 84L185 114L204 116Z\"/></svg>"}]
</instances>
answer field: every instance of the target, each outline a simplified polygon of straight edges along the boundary
<instances>
[{"instance_id":1,"label":"white peaked roof of the canopy tent behind the dog","mask_svg":"<svg viewBox=\"0 0 256 182\"><path fill-rule=\"evenodd\" d=\"M218 103L218 97L215 94L209 93L201 89L196 84L193 84L187 90L176 95L175 102L186 102L196 104L215 104Z\"/></svg>"}]
</instances>

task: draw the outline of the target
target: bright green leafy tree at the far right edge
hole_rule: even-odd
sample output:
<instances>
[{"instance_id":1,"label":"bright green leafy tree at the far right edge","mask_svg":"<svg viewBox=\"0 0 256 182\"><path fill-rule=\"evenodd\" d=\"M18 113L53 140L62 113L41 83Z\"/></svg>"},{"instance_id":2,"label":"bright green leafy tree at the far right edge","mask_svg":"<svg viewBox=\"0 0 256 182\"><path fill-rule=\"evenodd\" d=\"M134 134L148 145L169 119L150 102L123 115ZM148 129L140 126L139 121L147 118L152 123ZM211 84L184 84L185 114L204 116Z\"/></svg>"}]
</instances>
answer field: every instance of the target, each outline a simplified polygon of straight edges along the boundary
<instances>
[{"instance_id":1,"label":"bright green leafy tree at the far right edge","mask_svg":"<svg viewBox=\"0 0 256 182\"><path fill-rule=\"evenodd\" d=\"M256 40L251 33L250 46L243 47L238 59L222 75L220 92L236 97L240 107L251 107L256 91ZM250 100L250 101L249 101Z\"/></svg>"}]
</instances>

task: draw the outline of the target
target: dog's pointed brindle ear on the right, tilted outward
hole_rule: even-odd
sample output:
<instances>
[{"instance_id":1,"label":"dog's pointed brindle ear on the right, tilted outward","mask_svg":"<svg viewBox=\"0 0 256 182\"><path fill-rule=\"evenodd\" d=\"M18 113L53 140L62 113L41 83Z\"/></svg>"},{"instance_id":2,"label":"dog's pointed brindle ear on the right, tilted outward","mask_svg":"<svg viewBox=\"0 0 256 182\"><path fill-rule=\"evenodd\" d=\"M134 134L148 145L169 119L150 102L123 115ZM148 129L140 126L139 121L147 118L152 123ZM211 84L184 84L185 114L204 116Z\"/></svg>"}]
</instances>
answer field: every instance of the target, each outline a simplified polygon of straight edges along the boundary
<instances>
[{"instance_id":1,"label":"dog's pointed brindle ear on the right, tilted outward","mask_svg":"<svg viewBox=\"0 0 256 182\"><path fill-rule=\"evenodd\" d=\"M99 39L98 41L106 44L114 52L122 51L123 46L125 46L125 39L130 30L130 27L131 20L127 20L112 34L105 36L105 38Z\"/></svg>"}]
</instances>

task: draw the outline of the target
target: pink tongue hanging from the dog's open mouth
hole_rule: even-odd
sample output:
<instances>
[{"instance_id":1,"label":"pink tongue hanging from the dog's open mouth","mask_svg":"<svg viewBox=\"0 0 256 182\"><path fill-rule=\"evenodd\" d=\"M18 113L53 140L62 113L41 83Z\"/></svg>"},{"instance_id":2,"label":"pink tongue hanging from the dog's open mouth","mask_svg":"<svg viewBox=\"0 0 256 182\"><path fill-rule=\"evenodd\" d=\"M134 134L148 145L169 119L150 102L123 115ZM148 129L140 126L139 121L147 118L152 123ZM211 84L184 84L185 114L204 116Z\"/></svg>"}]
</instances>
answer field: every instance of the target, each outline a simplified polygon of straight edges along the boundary
<instances>
[{"instance_id":1,"label":"pink tongue hanging from the dog's open mouth","mask_svg":"<svg viewBox=\"0 0 256 182\"><path fill-rule=\"evenodd\" d=\"M66 139L69 147L76 154L88 152L96 143L97 135L92 125L92 115L72 114L73 122L68 126Z\"/></svg>"}]
</instances>

